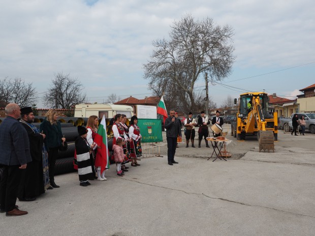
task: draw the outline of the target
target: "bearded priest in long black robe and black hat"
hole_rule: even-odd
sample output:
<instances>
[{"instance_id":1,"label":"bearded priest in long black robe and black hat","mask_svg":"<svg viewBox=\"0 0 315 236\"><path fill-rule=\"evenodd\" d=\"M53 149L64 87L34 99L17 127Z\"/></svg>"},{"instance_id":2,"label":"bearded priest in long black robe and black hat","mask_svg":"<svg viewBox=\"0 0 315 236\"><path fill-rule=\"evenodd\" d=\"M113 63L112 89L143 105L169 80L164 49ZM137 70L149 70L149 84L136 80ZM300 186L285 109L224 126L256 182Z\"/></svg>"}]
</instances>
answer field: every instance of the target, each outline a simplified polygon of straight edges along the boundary
<instances>
[{"instance_id":1,"label":"bearded priest in long black robe and black hat","mask_svg":"<svg viewBox=\"0 0 315 236\"><path fill-rule=\"evenodd\" d=\"M21 124L27 131L30 156L32 161L22 171L18 198L20 201L34 201L36 196L45 192L43 172L43 144L45 134L31 123L34 122L34 113L31 107L21 108Z\"/></svg>"}]
</instances>

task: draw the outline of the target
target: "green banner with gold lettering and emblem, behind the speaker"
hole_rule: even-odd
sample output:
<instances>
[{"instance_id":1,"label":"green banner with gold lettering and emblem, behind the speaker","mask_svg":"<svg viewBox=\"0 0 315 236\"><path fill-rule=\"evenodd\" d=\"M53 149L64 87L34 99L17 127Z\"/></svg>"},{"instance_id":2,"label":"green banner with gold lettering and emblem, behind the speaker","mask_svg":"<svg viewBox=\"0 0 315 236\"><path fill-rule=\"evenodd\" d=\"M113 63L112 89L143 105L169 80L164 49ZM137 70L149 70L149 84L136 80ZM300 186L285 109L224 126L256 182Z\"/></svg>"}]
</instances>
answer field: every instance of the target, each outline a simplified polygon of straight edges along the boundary
<instances>
[{"instance_id":1,"label":"green banner with gold lettering and emblem, behind the speaker","mask_svg":"<svg viewBox=\"0 0 315 236\"><path fill-rule=\"evenodd\" d=\"M161 119L138 119L142 143L163 142Z\"/></svg>"}]
</instances>

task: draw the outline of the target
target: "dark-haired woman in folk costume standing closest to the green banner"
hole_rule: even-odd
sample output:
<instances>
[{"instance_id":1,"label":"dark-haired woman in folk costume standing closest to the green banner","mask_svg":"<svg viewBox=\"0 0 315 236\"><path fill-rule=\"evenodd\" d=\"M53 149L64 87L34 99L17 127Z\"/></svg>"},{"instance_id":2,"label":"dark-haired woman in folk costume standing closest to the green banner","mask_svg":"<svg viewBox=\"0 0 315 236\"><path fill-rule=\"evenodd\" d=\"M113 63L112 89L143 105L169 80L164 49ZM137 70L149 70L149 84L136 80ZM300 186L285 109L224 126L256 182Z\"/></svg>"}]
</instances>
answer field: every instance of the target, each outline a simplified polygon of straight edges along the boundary
<instances>
[{"instance_id":1,"label":"dark-haired woman in folk costume standing closest to the green banner","mask_svg":"<svg viewBox=\"0 0 315 236\"><path fill-rule=\"evenodd\" d=\"M140 128L138 127L138 118L137 116L131 117L131 126L129 127L129 136L132 138L130 143L130 156L131 156L131 165L137 166L140 165L137 163L137 157L142 156L141 148L141 139Z\"/></svg>"}]
</instances>

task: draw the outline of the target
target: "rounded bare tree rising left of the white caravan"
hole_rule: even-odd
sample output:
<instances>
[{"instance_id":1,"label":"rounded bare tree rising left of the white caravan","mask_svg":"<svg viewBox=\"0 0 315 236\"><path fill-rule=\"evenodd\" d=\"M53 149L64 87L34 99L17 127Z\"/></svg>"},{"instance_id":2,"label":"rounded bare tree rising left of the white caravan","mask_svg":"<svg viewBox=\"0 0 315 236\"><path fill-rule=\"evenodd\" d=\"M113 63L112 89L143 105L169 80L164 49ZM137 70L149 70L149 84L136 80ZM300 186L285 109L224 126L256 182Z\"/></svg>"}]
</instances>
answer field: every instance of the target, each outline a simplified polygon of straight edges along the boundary
<instances>
[{"instance_id":1,"label":"rounded bare tree rising left of the white caravan","mask_svg":"<svg viewBox=\"0 0 315 236\"><path fill-rule=\"evenodd\" d=\"M86 93L83 91L83 85L77 78L59 72L55 74L44 102L52 108L71 109L75 104L87 102Z\"/></svg>"}]
</instances>

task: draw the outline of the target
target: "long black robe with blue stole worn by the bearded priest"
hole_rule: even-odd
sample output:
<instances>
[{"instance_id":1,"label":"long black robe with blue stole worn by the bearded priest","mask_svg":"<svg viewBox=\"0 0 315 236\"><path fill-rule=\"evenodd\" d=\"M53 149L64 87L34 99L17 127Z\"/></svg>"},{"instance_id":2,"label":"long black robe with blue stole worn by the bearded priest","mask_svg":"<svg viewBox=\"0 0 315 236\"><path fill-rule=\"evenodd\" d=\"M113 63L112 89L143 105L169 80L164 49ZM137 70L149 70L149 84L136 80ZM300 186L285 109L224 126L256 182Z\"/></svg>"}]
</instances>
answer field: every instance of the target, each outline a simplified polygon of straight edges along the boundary
<instances>
[{"instance_id":1,"label":"long black robe with blue stole worn by the bearded priest","mask_svg":"<svg viewBox=\"0 0 315 236\"><path fill-rule=\"evenodd\" d=\"M44 137L33 124L23 119L21 119L20 122L27 131L30 156L32 159L32 161L27 163L27 168L22 170L22 178L18 192L18 198L22 200L41 195L50 184L48 178L44 179L44 172L48 170L48 163L45 161L45 159L48 159L48 154L44 146Z\"/></svg>"}]
</instances>

